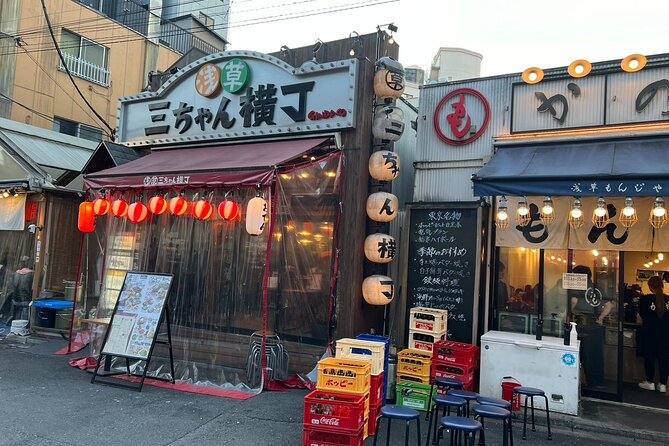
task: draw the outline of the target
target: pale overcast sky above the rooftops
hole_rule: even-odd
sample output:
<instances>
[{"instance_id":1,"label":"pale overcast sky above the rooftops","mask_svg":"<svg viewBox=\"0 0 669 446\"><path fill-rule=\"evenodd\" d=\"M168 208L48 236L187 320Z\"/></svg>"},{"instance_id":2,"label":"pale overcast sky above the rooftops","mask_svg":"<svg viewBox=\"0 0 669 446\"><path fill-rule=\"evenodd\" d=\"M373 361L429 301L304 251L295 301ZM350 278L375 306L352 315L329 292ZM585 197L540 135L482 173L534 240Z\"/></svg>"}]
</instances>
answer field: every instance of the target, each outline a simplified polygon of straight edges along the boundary
<instances>
[{"instance_id":1,"label":"pale overcast sky above the rooftops","mask_svg":"<svg viewBox=\"0 0 669 446\"><path fill-rule=\"evenodd\" d=\"M399 61L429 70L440 47L480 53L481 75L669 53L668 0L232 0L230 50L264 53L394 23ZM325 13L332 8L352 8ZM279 20L291 14L307 17ZM257 24L258 17L274 20ZM240 26L244 23L253 23ZM385 28L385 27L382 27Z\"/></svg>"}]
</instances>

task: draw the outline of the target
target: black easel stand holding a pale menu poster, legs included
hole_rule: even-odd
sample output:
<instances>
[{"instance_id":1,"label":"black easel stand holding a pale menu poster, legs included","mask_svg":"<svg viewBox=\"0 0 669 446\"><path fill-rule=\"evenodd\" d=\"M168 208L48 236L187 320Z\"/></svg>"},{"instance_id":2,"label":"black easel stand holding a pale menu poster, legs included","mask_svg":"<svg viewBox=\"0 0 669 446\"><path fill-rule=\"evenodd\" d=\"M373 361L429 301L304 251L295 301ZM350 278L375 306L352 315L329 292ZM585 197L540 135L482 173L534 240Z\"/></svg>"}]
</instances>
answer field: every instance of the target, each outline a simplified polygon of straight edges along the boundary
<instances>
[{"instance_id":1,"label":"black easel stand holding a pale menu poster, legs included","mask_svg":"<svg viewBox=\"0 0 669 446\"><path fill-rule=\"evenodd\" d=\"M167 307L167 296L172 285L171 274L128 272L123 280L123 288L116 301L114 312L109 321L109 327L102 341L102 348L95 364L95 371L91 383L109 384L119 387L129 387L138 392L142 391L146 372L153 354L154 346L167 344L170 354L171 378L157 378L170 381L174 384L174 359L172 356L172 334L170 332L170 315ZM167 340L157 340L159 330L165 323ZM103 357L125 358L126 373L140 376L139 385L116 380L100 380L98 370ZM144 371L141 375L130 373L130 360L144 361Z\"/></svg>"}]
</instances>

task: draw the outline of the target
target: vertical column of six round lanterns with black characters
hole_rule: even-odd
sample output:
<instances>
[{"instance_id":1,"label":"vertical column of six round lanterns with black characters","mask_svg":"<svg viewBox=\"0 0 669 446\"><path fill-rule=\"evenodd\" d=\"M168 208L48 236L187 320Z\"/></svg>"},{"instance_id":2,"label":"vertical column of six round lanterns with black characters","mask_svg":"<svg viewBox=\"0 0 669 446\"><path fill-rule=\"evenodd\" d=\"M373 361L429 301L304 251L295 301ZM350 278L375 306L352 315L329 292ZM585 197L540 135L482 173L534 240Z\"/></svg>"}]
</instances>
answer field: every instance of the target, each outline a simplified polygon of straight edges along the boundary
<instances>
[{"instance_id":1,"label":"vertical column of six round lanterns with black characters","mask_svg":"<svg viewBox=\"0 0 669 446\"><path fill-rule=\"evenodd\" d=\"M400 158L390 150L390 144L399 140L404 132L404 113L395 107L393 101L404 91L404 67L390 57L382 57L376 62L374 94L377 103L374 110L372 134L381 140L381 150L369 158L369 174L380 182L393 181L400 173ZM374 192L367 197L367 216L380 223L387 223L397 217L399 200L388 192ZM386 264L397 254L394 237L382 232L370 234L365 239L365 257L370 262ZM383 274L373 274L362 282L362 296L370 305L387 305L394 297L393 279Z\"/></svg>"}]
</instances>

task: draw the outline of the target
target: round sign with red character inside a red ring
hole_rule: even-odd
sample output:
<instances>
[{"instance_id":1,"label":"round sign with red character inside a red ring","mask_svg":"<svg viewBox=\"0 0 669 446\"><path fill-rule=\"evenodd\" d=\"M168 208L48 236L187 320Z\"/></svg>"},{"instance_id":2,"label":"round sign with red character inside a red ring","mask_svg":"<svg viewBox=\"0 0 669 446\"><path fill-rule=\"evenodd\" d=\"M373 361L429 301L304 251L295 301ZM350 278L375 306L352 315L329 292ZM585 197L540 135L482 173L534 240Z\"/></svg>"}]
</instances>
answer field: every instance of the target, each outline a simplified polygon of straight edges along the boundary
<instances>
[{"instance_id":1,"label":"round sign with red character inside a red ring","mask_svg":"<svg viewBox=\"0 0 669 446\"><path fill-rule=\"evenodd\" d=\"M449 108L444 108L450 105ZM442 117L443 111L443 117ZM483 122L472 120L480 119ZM462 146L476 140L485 132L490 120L490 105L486 98L471 88L460 88L448 93L434 111L434 129L446 144Z\"/></svg>"}]
</instances>

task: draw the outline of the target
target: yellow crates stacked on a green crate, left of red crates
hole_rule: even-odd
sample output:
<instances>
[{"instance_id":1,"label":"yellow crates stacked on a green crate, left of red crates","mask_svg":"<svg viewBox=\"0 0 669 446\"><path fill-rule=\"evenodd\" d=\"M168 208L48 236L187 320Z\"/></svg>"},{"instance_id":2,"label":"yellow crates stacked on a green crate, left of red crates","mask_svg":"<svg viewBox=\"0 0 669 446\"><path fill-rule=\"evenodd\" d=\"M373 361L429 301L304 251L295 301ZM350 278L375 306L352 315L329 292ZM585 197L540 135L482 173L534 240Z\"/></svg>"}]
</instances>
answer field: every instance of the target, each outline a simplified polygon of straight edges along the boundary
<instances>
[{"instance_id":1,"label":"yellow crates stacked on a green crate, left of red crates","mask_svg":"<svg viewBox=\"0 0 669 446\"><path fill-rule=\"evenodd\" d=\"M406 349L397 354L398 406L415 410L429 410L434 405L430 393L432 354L422 350Z\"/></svg>"}]
</instances>

